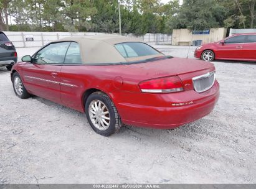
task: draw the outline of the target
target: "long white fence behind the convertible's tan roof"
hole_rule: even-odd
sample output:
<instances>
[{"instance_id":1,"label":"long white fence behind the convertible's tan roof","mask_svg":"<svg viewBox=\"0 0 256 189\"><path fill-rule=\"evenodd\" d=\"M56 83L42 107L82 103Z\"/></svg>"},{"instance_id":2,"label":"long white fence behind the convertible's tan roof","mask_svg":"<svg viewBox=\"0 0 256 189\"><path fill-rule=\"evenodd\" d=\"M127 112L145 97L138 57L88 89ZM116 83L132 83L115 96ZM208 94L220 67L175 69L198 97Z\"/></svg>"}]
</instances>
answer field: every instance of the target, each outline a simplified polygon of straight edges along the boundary
<instances>
[{"instance_id":1,"label":"long white fence behind the convertible's tan roof","mask_svg":"<svg viewBox=\"0 0 256 189\"><path fill-rule=\"evenodd\" d=\"M15 45L15 47L42 47L54 40L62 39L64 37L82 37L90 35L99 35L105 33L95 32L4 32L9 40ZM158 44L171 44L171 35L166 34L146 34L135 36L132 34L126 34L127 37L136 37L144 42L153 42Z\"/></svg>"}]
</instances>

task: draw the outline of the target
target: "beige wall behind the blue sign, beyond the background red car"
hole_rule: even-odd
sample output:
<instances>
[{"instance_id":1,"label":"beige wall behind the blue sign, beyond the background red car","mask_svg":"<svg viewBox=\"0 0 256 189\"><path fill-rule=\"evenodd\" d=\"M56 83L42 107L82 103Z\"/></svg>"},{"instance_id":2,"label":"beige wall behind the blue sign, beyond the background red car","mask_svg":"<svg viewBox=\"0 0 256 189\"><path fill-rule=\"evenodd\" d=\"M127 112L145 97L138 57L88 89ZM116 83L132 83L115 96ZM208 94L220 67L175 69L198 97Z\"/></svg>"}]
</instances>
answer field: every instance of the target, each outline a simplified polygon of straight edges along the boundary
<instances>
[{"instance_id":1,"label":"beige wall behind the blue sign, beyond the background red car","mask_svg":"<svg viewBox=\"0 0 256 189\"><path fill-rule=\"evenodd\" d=\"M193 40L202 40L202 44L216 42L225 38L227 29L212 28L210 34L192 34L188 29L175 29L172 35L172 45L192 45Z\"/></svg>"}]
</instances>

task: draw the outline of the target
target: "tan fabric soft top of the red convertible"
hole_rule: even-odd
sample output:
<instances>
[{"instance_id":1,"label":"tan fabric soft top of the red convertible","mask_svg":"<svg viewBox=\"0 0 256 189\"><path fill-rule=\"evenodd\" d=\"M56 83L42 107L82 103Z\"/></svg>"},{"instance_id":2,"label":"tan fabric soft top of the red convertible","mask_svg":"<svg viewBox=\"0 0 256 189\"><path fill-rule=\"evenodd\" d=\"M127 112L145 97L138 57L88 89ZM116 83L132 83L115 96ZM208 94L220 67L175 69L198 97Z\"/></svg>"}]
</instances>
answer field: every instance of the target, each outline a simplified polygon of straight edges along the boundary
<instances>
[{"instance_id":1,"label":"tan fabric soft top of the red convertible","mask_svg":"<svg viewBox=\"0 0 256 189\"><path fill-rule=\"evenodd\" d=\"M141 42L140 39L123 37L120 35L92 35L85 37L66 37L60 41L73 41L80 45L80 53L83 63L119 63L143 60L146 58L160 57L159 55L150 55L145 57L124 58L115 48L115 44L124 42Z\"/></svg>"}]
</instances>

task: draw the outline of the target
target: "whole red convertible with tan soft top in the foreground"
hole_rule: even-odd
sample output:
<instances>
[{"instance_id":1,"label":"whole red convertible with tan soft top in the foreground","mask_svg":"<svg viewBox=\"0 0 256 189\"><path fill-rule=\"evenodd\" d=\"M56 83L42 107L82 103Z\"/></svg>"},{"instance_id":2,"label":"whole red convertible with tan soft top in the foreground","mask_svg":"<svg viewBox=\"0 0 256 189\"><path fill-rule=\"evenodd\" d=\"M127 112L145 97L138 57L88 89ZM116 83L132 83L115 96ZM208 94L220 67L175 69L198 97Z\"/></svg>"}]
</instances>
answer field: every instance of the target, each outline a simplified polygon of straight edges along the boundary
<instances>
[{"instance_id":1,"label":"whole red convertible with tan soft top in the foreground","mask_svg":"<svg viewBox=\"0 0 256 189\"><path fill-rule=\"evenodd\" d=\"M31 94L85 112L110 136L121 124L170 129L211 113L219 98L212 63L166 57L116 35L71 37L22 57L11 71L19 98Z\"/></svg>"}]
</instances>

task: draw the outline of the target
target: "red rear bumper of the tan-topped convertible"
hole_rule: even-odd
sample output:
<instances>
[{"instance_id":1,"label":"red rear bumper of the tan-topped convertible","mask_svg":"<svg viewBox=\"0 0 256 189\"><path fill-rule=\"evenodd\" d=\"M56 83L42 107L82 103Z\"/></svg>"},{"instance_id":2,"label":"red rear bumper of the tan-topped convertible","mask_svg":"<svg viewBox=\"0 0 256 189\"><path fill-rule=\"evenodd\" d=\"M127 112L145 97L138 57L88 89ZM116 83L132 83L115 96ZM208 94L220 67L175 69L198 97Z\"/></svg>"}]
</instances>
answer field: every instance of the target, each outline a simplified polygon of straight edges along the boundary
<instances>
[{"instance_id":1,"label":"red rear bumper of the tan-topped convertible","mask_svg":"<svg viewBox=\"0 0 256 189\"><path fill-rule=\"evenodd\" d=\"M166 94L158 95L159 98L161 98L161 95ZM120 113L123 123L139 127L172 129L188 122L201 119L214 109L219 99L219 83L216 81L214 86L204 93L189 90L168 95L173 96L173 98L162 98L166 99L166 103L169 105L168 107L143 106L128 103L118 104L118 112ZM174 101L176 101L176 103ZM153 103L157 104L156 101Z\"/></svg>"}]
</instances>

